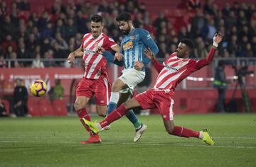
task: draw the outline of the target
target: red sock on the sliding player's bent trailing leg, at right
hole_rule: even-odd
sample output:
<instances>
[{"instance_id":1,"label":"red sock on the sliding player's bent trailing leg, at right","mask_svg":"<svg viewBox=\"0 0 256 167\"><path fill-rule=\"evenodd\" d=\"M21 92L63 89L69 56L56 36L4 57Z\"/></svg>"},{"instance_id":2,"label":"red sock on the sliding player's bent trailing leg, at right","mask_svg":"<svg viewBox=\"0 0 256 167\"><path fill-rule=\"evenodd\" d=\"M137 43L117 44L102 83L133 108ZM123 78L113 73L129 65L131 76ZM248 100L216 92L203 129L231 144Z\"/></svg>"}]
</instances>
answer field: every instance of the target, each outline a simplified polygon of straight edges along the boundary
<instances>
[{"instance_id":1,"label":"red sock on the sliding player's bent trailing leg, at right","mask_svg":"<svg viewBox=\"0 0 256 167\"><path fill-rule=\"evenodd\" d=\"M178 137L199 137L199 132L193 131L191 129L186 129L185 127L174 127L174 131L171 134Z\"/></svg>"}]
</instances>

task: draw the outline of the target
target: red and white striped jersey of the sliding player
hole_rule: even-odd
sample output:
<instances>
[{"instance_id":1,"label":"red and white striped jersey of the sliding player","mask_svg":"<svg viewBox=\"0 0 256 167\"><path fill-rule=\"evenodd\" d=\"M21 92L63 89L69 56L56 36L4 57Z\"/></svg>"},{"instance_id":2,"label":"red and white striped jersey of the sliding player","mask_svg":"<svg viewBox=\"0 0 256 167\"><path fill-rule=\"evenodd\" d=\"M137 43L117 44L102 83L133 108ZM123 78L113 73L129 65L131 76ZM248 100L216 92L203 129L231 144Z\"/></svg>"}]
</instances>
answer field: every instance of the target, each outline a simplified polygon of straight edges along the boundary
<instances>
[{"instance_id":1,"label":"red and white striped jersey of the sliding player","mask_svg":"<svg viewBox=\"0 0 256 167\"><path fill-rule=\"evenodd\" d=\"M207 59L182 59L177 57L176 52L171 54L168 59L163 63L164 69L162 69L157 76L156 84L154 88L161 89L175 89L178 83L185 79L193 71L197 71L202 67L205 67L213 59L215 50L212 49L208 53Z\"/></svg>"}]
</instances>

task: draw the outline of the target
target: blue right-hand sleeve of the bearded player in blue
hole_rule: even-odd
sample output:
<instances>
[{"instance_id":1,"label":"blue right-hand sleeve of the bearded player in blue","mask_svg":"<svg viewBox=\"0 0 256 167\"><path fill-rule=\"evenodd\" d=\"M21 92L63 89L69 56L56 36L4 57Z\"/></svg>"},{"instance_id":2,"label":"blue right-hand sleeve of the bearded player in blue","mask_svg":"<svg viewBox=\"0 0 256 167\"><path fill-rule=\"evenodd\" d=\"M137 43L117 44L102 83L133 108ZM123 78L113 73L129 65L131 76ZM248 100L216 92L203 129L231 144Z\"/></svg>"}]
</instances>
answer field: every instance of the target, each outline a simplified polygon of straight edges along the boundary
<instances>
[{"instance_id":1,"label":"blue right-hand sleeve of the bearded player in blue","mask_svg":"<svg viewBox=\"0 0 256 167\"><path fill-rule=\"evenodd\" d=\"M151 38L149 31L140 29L139 36L142 39L142 42L146 47L149 47L150 50L156 55L159 52L159 48L157 47L154 40Z\"/></svg>"}]
</instances>

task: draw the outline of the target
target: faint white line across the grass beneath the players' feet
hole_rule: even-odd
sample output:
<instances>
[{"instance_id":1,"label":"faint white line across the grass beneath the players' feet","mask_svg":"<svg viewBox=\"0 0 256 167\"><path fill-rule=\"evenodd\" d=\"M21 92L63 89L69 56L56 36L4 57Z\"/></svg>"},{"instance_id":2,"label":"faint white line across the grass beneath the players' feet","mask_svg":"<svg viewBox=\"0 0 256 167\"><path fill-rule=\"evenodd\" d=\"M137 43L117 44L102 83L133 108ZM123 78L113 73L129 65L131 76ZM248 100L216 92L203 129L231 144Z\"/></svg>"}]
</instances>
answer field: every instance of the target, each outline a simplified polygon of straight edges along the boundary
<instances>
[{"instance_id":1,"label":"faint white line across the grass beneath the players' feet","mask_svg":"<svg viewBox=\"0 0 256 167\"><path fill-rule=\"evenodd\" d=\"M43 142L36 142L36 141L0 141L0 143L60 143L60 144L78 144L78 142L63 142L63 141L43 141ZM117 145L134 145L134 142L122 142L122 143L116 143L116 142L103 142L102 144L117 144ZM168 144L166 143L152 143L152 142L139 142L139 145L149 145L149 146L166 146ZM234 149L256 149L256 146L207 146L207 145L201 145L201 144L171 144L171 146L196 146L196 147L208 147L208 148L234 148Z\"/></svg>"}]
</instances>

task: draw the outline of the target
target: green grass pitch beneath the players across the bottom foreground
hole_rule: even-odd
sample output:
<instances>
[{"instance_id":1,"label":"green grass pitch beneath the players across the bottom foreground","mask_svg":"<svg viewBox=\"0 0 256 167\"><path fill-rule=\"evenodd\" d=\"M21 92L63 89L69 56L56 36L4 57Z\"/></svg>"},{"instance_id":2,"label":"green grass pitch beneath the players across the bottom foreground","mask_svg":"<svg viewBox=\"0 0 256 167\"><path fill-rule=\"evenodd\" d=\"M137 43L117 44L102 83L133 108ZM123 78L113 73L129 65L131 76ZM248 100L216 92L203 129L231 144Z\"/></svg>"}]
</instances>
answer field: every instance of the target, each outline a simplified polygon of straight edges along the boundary
<instances>
[{"instance_id":1,"label":"green grass pitch beneath the players across the bottom foreground","mask_svg":"<svg viewBox=\"0 0 256 167\"><path fill-rule=\"evenodd\" d=\"M92 117L92 120L101 120ZM78 117L0 119L0 166L255 166L256 115L176 115L176 125L208 128L215 146L167 134L159 115L139 117L148 129L134 143L127 118L100 133L102 144L81 145L88 134Z\"/></svg>"}]
</instances>

